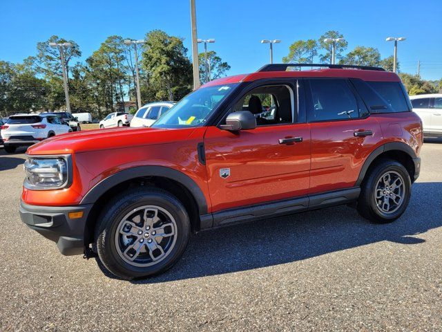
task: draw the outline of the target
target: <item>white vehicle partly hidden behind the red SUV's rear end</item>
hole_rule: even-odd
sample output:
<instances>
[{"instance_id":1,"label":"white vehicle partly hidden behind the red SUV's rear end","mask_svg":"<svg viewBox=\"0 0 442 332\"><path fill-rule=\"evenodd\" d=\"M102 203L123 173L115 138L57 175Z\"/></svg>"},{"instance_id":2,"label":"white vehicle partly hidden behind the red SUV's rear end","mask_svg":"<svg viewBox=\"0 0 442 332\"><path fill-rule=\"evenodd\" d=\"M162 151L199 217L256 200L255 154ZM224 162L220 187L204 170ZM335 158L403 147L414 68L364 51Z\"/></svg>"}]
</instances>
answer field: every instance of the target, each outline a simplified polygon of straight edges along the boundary
<instances>
[{"instance_id":1,"label":"white vehicle partly hidden behind the red SUV's rear end","mask_svg":"<svg viewBox=\"0 0 442 332\"><path fill-rule=\"evenodd\" d=\"M413 111L421 118L423 135L442 136L442 93L410 95Z\"/></svg>"}]
</instances>

